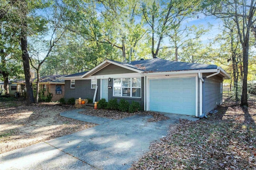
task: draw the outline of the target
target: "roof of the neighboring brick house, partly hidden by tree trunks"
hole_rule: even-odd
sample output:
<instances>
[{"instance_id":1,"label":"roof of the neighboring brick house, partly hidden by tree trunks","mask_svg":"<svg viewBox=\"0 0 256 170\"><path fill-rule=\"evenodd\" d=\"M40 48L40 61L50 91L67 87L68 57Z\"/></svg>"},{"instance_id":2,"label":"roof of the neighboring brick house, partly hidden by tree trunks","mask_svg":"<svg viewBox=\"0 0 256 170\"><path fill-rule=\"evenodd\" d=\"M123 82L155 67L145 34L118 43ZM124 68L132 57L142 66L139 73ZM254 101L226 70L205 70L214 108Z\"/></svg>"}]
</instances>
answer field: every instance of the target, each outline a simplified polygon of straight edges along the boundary
<instances>
[{"instance_id":1,"label":"roof of the neighboring brick house, partly hidden by tree trunks","mask_svg":"<svg viewBox=\"0 0 256 170\"><path fill-rule=\"evenodd\" d=\"M64 83L65 81L63 79L58 79L59 77L62 77L65 75L50 75L50 76L42 76L40 78L40 83ZM18 84L25 83L25 80L17 81ZM36 78L32 79L32 83L36 83Z\"/></svg>"}]
</instances>

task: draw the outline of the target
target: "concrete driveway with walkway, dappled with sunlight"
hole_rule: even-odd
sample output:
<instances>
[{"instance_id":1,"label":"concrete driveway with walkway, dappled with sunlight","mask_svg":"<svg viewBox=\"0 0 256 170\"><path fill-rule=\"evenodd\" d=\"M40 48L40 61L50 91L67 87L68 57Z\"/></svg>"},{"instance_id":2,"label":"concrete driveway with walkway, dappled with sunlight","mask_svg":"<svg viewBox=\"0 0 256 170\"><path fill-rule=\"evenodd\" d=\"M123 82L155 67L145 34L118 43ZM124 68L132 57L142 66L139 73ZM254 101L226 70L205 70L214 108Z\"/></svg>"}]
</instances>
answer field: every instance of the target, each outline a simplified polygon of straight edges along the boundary
<instances>
[{"instance_id":1,"label":"concrete driveway with walkway, dappled with sunlight","mask_svg":"<svg viewBox=\"0 0 256 170\"><path fill-rule=\"evenodd\" d=\"M126 170L149 151L150 143L167 134L180 118L195 117L166 114L170 119L148 122L152 115L135 115L120 120L101 119L77 113L62 115L83 121L98 121L96 127L36 145L0 154L0 169L104 169Z\"/></svg>"}]
</instances>

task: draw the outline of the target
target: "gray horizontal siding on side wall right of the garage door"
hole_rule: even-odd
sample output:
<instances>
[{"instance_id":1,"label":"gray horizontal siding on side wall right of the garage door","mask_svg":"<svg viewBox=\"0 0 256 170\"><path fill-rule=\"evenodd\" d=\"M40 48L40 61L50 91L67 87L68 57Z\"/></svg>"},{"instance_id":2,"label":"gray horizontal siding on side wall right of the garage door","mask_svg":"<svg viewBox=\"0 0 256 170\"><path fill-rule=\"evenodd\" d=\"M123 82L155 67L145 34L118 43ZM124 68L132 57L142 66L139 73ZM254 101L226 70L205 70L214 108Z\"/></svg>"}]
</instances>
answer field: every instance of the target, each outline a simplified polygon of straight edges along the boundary
<instances>
[{"instance_id":1,"label":"gray horizontal siding on side wall right of the garage door","mask_svg":"<svg viewBox=\"0 0 256 170\"><path fill-rule=\"evenodd\" d=\"M208 74L203 74L203 77ZM204 79L204 113L208 113L222 103L222 93L220 93L220 83L222 77L216 75Z\"/></svg>"}]
</instances>

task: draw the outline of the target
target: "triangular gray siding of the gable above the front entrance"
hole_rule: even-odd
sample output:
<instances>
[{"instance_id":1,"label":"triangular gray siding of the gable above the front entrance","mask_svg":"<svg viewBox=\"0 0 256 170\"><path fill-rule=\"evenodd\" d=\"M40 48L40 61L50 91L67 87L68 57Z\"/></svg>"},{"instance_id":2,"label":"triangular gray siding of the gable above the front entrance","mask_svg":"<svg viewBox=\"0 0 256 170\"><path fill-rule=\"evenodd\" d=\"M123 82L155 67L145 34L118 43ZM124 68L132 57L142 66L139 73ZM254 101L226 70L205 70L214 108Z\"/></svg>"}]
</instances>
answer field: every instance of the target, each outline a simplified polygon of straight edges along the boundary
<instances>
[{"instance_id":1,"label":"triangular gray siding of the gable above the front entrance","mask_svg":"<svg viewBox=\"0 0 256 170\"><path fill-rule=\"evenodd\" d=\"M98 72L92 74L92 76L98 76L98 75L106 75L106 74L123 74L123 73L133 73L135 71L128 70L126 68L114 65L114 64L109 64L108 66L102 68Z\"/></svg>"}]
</instances>

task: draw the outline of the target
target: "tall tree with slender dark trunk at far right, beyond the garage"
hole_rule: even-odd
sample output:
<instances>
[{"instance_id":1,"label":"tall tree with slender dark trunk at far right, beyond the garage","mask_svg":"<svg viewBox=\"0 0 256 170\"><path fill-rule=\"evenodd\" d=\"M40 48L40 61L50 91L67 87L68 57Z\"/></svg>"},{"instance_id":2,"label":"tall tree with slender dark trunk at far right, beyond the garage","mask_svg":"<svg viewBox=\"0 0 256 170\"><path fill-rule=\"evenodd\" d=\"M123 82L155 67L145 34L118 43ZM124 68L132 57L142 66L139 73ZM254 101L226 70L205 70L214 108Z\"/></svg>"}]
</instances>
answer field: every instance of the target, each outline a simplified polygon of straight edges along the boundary
<instances>
[{"instance_id":1,"label":"tall tree with slender dark trunk at far right, beyond the garage","mask_svg":"<svg viewBox=\"0 0 256 170\"><path fill-rule=\"evenodd\" d=\"M206 14L218 18L230 18L236 24L239 41L243 52L243 86L240 106L248 106L247 76L250 31L256 22L256 0L205 0L202 3Z\"/></svg>"}]
</instances>

